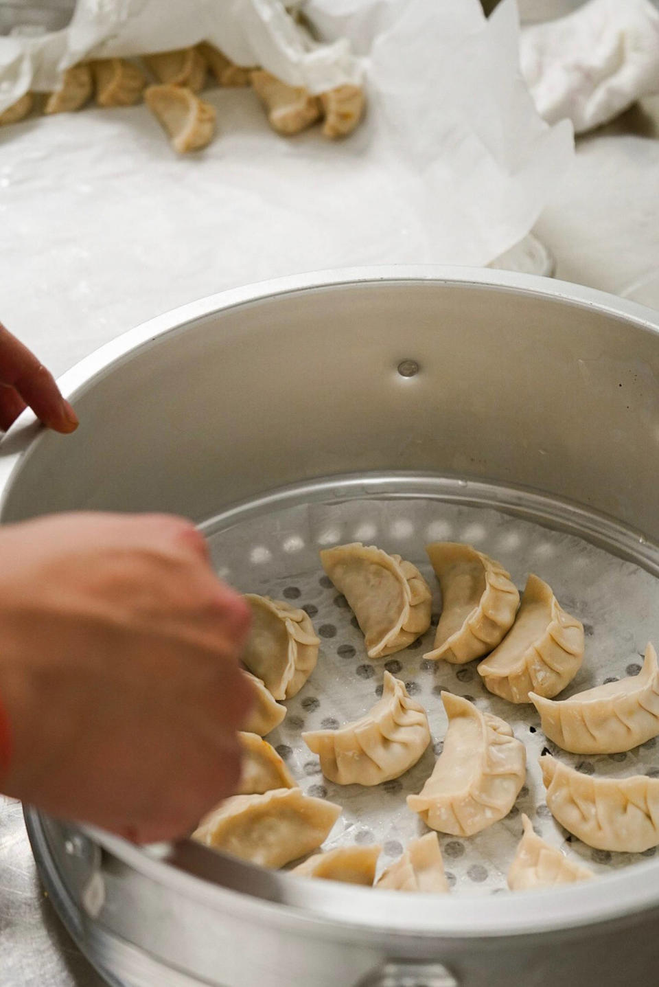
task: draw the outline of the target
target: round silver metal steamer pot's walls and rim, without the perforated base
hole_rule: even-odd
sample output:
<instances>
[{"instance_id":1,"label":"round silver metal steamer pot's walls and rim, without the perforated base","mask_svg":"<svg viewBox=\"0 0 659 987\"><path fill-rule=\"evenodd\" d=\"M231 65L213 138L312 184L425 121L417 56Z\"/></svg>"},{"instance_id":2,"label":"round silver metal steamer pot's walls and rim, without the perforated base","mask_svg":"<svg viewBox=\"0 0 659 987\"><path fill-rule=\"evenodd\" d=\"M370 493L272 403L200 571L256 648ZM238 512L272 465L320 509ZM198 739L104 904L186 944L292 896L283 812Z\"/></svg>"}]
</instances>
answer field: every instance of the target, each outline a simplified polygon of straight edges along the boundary
<instances>
[{"instance_id":1,"label":"round silver metal steamer pot's walls and rim, without the perforated base","mask_svg":"<svg viewBox=\"0 0 659 987\"><path fill-rule=\"evenodd\" d=\"M423 476L659 573L659 316L596 291L465 268L290 277L155 319L62 385L83 423L12 429L2 521L203 521ZM525 894L374 893L27 821L51 900L117 987L614 987L659 962L651 861Z\"/></svg>"}]
</instances>

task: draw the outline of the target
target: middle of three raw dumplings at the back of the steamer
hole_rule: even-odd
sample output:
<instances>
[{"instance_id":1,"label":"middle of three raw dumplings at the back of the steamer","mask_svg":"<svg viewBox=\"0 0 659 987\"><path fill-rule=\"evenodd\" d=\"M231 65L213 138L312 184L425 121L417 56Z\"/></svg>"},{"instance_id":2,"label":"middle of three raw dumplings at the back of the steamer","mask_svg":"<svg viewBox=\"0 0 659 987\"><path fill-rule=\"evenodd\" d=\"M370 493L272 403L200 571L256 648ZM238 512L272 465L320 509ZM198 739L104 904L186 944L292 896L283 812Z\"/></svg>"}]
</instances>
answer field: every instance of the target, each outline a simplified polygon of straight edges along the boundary
<instances>
[{"instance_id":1,"label":"middle of three raw dumplings at the back of the steamer","mask_svg":"<svg viewBox=\"0 0 659 987\"><path fill-rule=\"evenodd\" d=\"M487 654L513 626L520 594L510 575L470 545L426 545L442 588L435 644L424 658L464 664Z\"/></svg>"}]
</instances>

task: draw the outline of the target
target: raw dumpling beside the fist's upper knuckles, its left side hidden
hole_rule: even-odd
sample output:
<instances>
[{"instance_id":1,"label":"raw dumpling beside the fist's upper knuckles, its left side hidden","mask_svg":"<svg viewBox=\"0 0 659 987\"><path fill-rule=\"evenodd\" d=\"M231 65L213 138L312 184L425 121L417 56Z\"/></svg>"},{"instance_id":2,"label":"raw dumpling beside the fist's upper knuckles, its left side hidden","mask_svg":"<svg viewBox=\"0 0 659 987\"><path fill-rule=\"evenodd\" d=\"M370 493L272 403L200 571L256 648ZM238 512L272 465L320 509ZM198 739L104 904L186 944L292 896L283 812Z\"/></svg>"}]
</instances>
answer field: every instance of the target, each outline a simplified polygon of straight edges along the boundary
<instances>
[{"instance_id":1,"label":"raw dumpling beside the fist's upper knuckles, its left side hidden","mask_svg":"<svg viewBox=\"0 0 659 987\"><path fill-rule=\"evenodd\" d=\"M305 684L318 661L320 638L304 610L285 600L247 593L252 634L243 662L275 699L290 699Z\"/></svg>"}]
</instances>

